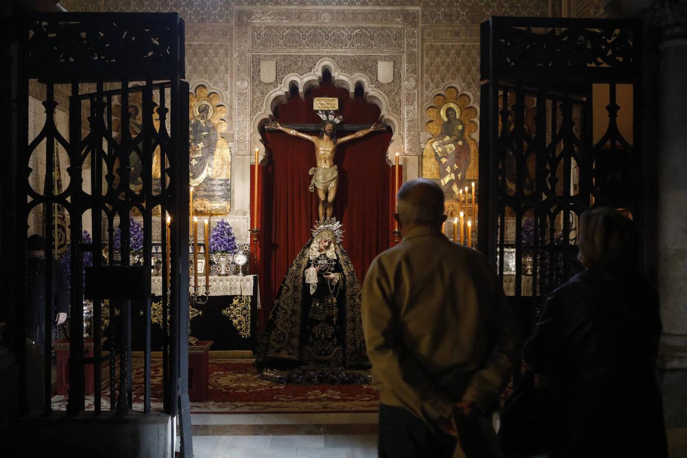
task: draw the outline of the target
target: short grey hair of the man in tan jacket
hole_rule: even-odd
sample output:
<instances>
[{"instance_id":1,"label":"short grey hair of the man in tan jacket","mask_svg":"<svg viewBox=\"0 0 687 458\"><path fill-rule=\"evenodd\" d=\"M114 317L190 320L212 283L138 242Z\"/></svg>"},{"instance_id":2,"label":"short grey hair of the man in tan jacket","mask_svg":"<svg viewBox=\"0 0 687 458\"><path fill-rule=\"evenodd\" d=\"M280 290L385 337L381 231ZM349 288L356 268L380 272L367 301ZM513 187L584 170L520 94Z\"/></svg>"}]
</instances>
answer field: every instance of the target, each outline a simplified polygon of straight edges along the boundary
<instances>
[{"instance_id":1,"label":"short grey hair of the man in tan jacket","mask_svg":"<svg viewBox=\"0 0 687 458\"><path fill-rule=\"evenodd\" d=\"M425 178L407 181L398 190L396 213L404 224L437 224L444 218L444 192Z\"/></svg>"}]
</instances>

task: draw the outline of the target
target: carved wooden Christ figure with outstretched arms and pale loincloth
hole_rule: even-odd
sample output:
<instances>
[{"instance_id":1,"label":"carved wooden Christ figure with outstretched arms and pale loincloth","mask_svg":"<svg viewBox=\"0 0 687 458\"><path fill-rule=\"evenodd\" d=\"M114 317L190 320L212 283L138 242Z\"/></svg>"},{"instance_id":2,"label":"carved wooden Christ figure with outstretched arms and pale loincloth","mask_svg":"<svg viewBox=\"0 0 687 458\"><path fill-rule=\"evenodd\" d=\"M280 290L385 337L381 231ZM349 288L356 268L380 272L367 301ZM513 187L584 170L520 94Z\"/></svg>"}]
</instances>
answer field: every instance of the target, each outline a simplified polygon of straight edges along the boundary
<instances>
[{"instance_id":1,"label":"carved wooden Christ figure with outstretched arms and pale loincloth","mask_svg":"<svg viewBox=\"0 0 687 458\"><path fill-rule=\"evenodd\" d=\"M333 122L325 122L322 124L322 129L317 136L308 135L295 129L284 128L276 121L267 123L267 127L281 130L294 137L312 141L313 144L315 144L315 161L317 161L317 167L308 170L308 174L313 175L313 181L310 183L309 190L311 192L317 190L317 200L319 201L317 212L319 214L319 220L321 221L324 220L324 218L331 218L334 211L333 203L337 195L337 185L339 184L339 171L334 163L334 155L337 146L346 143L346 141L368 135L374 130L385 129L385 126L378 122L372 124L369 128L358 130L355 133L346 135L346 137L337 139Z\"/></svg>"}]
</instances>

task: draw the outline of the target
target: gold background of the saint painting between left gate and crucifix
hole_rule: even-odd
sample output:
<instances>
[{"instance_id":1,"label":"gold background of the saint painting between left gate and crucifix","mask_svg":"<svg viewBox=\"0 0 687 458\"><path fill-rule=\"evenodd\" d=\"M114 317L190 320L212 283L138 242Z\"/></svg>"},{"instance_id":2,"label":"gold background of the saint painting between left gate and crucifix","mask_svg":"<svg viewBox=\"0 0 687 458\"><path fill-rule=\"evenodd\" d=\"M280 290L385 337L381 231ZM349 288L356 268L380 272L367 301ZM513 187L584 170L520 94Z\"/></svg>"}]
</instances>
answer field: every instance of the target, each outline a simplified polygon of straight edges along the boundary
<instances>
[{"instance_id":1,"label":"gold background of the saint painting between left gate and crucifix","mask_svg":"<svg viewBox=\"0 0 687 458\"><path fill-rule=\"evenodd\" d=\"M207 176L207 179L231 179L232 178L232 151L229 148L229 143L222 137L222 133L227 128L227 107L221 102L221 97L218 93L210 90L204 84L199 84L195 93L188 95L188 119L189 122L194 118L194 106L199 102L207 102L210 104L210 122L214 126L217 133L217 143L215 145L214 157L212 159L212 175ZM205 183L205 180L203 183ZM201 183L201 184L203 184ZM225 196L205 196L203 192L194 191L193 196L193 211L197 215L217 215L223 216L229 213L230 196L227 193Z\"/></svg>"}]
</instances>

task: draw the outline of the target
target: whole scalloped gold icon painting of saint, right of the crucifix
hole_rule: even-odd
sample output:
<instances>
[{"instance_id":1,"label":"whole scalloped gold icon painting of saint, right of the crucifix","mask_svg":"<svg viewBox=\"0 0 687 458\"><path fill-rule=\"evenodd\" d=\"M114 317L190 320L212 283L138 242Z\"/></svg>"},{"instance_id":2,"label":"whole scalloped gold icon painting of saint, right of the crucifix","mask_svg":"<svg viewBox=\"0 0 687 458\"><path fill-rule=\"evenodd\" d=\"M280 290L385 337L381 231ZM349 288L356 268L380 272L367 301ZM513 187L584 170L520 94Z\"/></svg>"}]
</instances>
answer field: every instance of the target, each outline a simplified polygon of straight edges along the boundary
<instances>
[{"instance_id":1,"label":"whole scalloped gold icon painting of saint, right of the crucifix","mask_svg":"<svg viewBox=\"0 0 687 458\"><path fill-rule=\"evenodd\" d=\"M423 150L423 177L438 180L447 200L460 200L460 190L477 181L477 107L472 96L455 87L433 98L425 130L431 138Z\"/></svg>"}]
</instances>

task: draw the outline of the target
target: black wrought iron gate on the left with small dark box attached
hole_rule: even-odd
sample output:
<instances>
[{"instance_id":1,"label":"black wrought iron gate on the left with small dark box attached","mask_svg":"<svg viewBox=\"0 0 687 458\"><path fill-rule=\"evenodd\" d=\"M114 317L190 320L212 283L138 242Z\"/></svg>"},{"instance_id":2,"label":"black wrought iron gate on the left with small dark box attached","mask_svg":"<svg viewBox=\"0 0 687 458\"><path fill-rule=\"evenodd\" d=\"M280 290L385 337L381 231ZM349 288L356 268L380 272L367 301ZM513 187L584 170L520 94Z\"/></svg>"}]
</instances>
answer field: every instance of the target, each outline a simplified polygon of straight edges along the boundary
<instances>
[{"instance_id":1,"label":"black wrought iron gate on the left with small dark box attached","mask_svg":"<svg viewBox=\"0 0 687 458\"><path fill-rule=\"evenodd\" d=\"M104 266L142 265L144 268L139 268L139 272L149 277L148 266L155 251L166 279L162 293L162 328L166 336L161 349L163 409L172 416L181 414L182 450L185 456L191 456L188 83L181 80L184 76L183 20L176 13L31 15L23 25L20 56L19 100L29 100L30 84L39 91L45 90L45 122L30 137L29 121L41 113L34 112L30 117L29 106L19 104L19 125L24 126L19 150L23 169L20 166L19 170L27 170L18 179L19 217L26 221L30 231L43 233L48 260L56 257L58 239L69 240L69 249L62 259L63 266L71 271L67 411L76 414L85 409L85 367L93 365L93 410L100 413L100 367L108 359L109 410L115 410L115 387L120 392L117 412L126 415L133 408L131 309L126 301L107 301L106 297L98 297L98 293L92 301L86 301L82 272L85 264L91 264L96 271ZM59 165L56 167L60 150L69 162L66 176L60 175ZM61 181L68 182L63 189L56 185L58 175ZM38 181L47 183L45 189L35 189L34 183ZM167 225L166 216L171 220ZM25 232L17 235L18 247L25 247L26 236ZM45 288L51 291L55 267L52 262L45 265ZM23 285L25 250L16 251L16 266L16 284ZM131 287L116 286L122 290ZM27 295L31 293L27 291ZM45 323L51 323L54 320L52 298L46 296ZM19 329L23 329L24 299L20 295L16 301ZM148 413L149 290L142 293L142 300L147 300L144 310L148 323L142 411ZM93 355L87 357L84 321L85 314L91 313ZM107 322L109 326L105 325ZM52 327L45 328L45 354L49 355ZM23 343L17 343L18 353L24 348ZM117 357L120 374L115 374ZM25 360L23 354L19 360ZM26 376L25 363L23 376ZM52 410L51 385L48 356L43 380L45 413ZM171 454L174 455L173 444Z\"/></svg>"}]
</instances>

